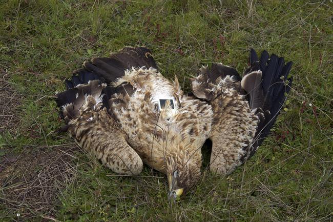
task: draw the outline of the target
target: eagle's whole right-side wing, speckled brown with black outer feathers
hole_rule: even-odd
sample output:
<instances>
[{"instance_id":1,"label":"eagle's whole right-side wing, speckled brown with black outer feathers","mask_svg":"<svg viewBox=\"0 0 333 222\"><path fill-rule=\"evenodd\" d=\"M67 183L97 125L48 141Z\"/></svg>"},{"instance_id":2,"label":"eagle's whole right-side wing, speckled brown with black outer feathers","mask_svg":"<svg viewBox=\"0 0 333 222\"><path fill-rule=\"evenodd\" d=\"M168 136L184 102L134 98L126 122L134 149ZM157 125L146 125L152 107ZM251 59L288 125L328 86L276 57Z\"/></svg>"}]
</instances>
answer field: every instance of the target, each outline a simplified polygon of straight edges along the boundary
<instances>
[{"instance_id":1,"label":"eagle's whole right-side wing, speckled brown with black outer feathers","mask_svg":"<svg viewBox=\"0 0 333 222\"><path fill-rule=\"evenodd\" d=\"M251 157L269 134L290 90L292 63L252 49L243 78L231 67L213 64L192 79L195 96L213 108L210 170L228 174Z\"/></svg>"}]
</instances>

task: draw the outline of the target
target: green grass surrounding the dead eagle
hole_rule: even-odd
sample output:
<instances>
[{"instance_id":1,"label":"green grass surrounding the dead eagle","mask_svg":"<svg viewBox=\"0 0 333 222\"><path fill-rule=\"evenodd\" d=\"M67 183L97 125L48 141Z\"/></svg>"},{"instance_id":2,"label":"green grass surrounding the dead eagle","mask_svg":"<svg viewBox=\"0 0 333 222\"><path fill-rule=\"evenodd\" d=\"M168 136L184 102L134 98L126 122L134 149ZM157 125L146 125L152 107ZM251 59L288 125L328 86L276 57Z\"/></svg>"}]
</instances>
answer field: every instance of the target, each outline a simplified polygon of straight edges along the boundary
<instances>
[{"instance_id":1,"label":"green grass surrounding the dead eagle","mask_svg":"<svg viewBox=\"0 0 333 222\"><path fill-rule=\"evenodd\" d=\"M0 134L0 221L332 221L330 1L9 0L1 5L0 71L19 102L15 124L8 122ZM250 47L266 49L293 60L293 89L251 160L227 178L203 169L196 189L169 204L162 174L145 166L138 177L112 175L67 134L55 132L64 123L53 95L65 89L64 79L85 60L129 45L151 48L163 75L178 76L185 91L188 77L202 64L223 62L242 72ZM207 165L209 145L203 150ZM66 163L58 158L64 152ZM40 153L47 162L37 158ZM40 172L46 173L48 189L40 182L36 191L28 182L40 181ZM50 186L58 190L55 196ZM53 198L39 198L50 190Z\"/></svg>"}]
</instances>

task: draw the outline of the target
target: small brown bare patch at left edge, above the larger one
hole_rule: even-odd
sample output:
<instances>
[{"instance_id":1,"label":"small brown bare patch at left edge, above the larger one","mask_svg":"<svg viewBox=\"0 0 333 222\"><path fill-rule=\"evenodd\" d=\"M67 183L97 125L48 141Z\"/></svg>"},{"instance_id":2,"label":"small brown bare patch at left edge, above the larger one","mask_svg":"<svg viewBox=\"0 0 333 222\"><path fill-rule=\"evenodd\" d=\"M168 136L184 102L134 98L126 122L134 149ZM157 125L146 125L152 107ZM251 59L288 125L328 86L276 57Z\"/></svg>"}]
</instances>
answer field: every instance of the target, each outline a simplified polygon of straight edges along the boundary
<instances>
[{"instance_id":1,"label":"small brown bare patch at left edge, above the larger one","mask_svg":"<svg viewBox=\"0 0 333 222\"><path fill-rule=\"evenodd\" d=\"M8 81L8 73L0 69L0 133L12 130L19 124L17 107L20 105L20 95Z\"/></svg>"}]
</instances>

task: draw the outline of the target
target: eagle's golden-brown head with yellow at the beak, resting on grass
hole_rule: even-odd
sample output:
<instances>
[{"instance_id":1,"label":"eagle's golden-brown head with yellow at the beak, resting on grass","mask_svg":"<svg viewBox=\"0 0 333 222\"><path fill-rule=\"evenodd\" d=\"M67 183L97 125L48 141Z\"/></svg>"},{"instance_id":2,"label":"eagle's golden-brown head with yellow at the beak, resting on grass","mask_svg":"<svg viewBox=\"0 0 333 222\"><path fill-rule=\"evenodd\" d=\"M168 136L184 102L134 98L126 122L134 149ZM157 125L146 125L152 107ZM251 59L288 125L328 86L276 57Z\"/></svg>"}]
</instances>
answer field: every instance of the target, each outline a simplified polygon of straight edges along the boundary
<instances>
[{"instance_id":1,"label":"eagle's golden-brown head with yellow at the beak, resting on grass","mask_svg":"<svg viewBox=\"0 0 333 222\"><path fill-rule=\"evenodd\" d=\"M174 201L188 192L200 177L201 151L178 149L165 156L166 175L169 183L169 198Z\"/></svg>"}]
</instances>

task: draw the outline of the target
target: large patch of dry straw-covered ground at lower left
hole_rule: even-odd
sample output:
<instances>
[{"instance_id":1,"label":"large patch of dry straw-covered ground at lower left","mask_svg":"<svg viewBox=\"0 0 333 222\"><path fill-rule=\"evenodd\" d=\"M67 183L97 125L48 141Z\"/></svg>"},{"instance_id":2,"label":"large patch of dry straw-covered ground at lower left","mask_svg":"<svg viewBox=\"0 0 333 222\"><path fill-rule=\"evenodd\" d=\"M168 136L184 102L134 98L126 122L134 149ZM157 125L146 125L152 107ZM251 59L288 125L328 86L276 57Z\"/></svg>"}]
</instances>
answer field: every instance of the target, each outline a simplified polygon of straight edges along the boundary
<instances>
[{"instance_id":1,"label":"large patch of dry straw-covered ground at lower left","mask_svg":"<svg viewBox=\"0 0 333 222\"><path fill-rule=\"evenodd\" d=\"M73 147L25 147L20 155L0 157L0 205L27 219L55 213L61 190L76 177Z\"/></svg>"}]
</instances>

